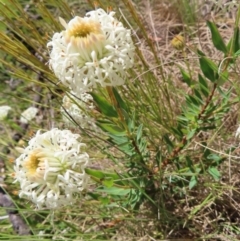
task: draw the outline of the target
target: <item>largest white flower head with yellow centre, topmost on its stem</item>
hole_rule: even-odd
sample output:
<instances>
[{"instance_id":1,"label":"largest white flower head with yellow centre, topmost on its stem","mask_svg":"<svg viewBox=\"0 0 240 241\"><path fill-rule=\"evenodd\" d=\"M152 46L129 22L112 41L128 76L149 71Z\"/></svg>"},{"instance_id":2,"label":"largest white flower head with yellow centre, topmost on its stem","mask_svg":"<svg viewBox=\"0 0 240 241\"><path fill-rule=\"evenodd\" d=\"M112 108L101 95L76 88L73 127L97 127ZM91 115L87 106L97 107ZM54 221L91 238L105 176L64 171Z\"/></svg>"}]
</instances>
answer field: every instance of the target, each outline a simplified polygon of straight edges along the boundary
<instances>
[{"instance_id":1,"label":"largest white flower head with yellow centre, topmost on its stem","mask_svg":"<svg viewBox=\"0 0 240 241\"><path fill-rule=\"evenodd\" d=\"M133 66L134 44L131 31L103 9L74 17L65 30L55 33L47 44L49 65L64 85L79 94L96 83L101 86L124 84L126 70Z\"/></svg>"}]
</instances>

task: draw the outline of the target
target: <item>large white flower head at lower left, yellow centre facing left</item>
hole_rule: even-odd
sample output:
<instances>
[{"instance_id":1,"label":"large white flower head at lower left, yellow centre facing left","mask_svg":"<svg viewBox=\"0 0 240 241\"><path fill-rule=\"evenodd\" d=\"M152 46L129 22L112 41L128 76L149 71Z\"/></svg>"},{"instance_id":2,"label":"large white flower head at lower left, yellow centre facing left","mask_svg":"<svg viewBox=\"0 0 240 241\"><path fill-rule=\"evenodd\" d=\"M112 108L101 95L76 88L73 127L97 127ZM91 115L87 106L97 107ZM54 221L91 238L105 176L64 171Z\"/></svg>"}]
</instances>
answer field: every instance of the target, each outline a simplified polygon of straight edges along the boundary
<instances>
[{"instance_id":1,"label":"large white flower head at lower left, yellow centre facing left","mask_svg":"<svg viewBox=\"0 0 240 241\"><path fill-rule=\"evenodd\" d=\"M57 208L74 203L74 193L88 183L85 167L89 156L82 150L79 135L69 130L38 131L16 159L15 178L20 197L38 208Z\"/></svg>"}]
</instances>

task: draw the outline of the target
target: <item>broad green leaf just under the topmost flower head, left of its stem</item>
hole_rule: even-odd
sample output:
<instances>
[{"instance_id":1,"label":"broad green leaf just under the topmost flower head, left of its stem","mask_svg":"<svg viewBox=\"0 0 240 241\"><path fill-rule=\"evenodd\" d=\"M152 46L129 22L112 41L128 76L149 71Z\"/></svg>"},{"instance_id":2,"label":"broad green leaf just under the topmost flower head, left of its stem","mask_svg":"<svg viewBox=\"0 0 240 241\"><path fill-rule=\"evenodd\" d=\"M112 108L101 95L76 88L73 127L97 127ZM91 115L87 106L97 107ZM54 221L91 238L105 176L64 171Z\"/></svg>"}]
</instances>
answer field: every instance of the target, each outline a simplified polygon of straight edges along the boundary
<instances>
[{"instance_id":1,"label":"broad green leaf just under the topmost flower head, left of its stem","mask_svg":"<svg viewBox=\"0 0 240 241\"><path fill-rule=\"evenodd\" d=\"M100 96L96 93L91 93L91 95L102 114L106 115L107 117L118 117L118 113L115 108L108 103L103 96Z\"/></svg>"}]
</instances>

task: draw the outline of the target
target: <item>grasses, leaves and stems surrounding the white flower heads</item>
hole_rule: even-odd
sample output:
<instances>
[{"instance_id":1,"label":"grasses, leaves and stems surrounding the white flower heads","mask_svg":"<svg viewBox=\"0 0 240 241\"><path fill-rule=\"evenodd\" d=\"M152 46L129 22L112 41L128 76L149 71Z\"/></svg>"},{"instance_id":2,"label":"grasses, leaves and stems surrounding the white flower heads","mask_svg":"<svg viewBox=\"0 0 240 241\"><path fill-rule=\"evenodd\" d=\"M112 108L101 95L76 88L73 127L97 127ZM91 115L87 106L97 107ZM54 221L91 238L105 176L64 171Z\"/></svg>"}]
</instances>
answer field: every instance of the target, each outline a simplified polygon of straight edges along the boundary
<instances>
[{"instance_id":1,"label":"grasses, leaves and stems surrounding the white flower heads","mask_svg":"<svg viewBox=\"0 0 240 241\"><path fill-rule=\"evenodd\" d=\"M240 7L218 3L98 2L132 28L136 63L124 86L93 94L102 135L70 127L88 145L94 181L77 204L52 211L18 197L15 147L38 129L69 128L60 113L66 88L46 45L62 30L59 16L69 21L95 5L0 0L0 105L13 109L0 125L1 195L14 203L1 209L10 217L0 221L1 240L26 239L13 215L27 224L27 240L240 239ZM23 125L29 106L39 112Z\"/></svg>"}]
</instances>

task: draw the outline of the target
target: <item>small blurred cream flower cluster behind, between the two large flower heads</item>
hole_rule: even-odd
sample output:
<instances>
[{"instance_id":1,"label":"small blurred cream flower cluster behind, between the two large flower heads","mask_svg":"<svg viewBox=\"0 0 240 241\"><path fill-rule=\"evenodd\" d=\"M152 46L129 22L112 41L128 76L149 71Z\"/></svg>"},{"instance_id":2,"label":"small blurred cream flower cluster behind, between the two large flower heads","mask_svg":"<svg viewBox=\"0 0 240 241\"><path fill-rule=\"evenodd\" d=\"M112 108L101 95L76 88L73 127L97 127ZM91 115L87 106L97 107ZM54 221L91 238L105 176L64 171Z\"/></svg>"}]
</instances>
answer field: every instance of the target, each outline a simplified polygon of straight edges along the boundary
<instances>
[{"instance_id":1,"label":"small blurred cream flower cluster behind, between the two large flower heads","mask_svg":"<svg viewBox=\"0 0 240 241\"><path fill-rule=\"evenodd\" d=\"M63 97L61 112L63 120L67 124L71 125L77 122L82 128L97 128L94 119L89 116L89 112L93 109L93 98L88 93L80 94L79 98L77 98L74 93L71 93L70 96L65 95Z\"/></svg>"}]
</instances>

